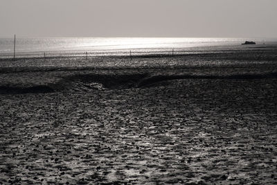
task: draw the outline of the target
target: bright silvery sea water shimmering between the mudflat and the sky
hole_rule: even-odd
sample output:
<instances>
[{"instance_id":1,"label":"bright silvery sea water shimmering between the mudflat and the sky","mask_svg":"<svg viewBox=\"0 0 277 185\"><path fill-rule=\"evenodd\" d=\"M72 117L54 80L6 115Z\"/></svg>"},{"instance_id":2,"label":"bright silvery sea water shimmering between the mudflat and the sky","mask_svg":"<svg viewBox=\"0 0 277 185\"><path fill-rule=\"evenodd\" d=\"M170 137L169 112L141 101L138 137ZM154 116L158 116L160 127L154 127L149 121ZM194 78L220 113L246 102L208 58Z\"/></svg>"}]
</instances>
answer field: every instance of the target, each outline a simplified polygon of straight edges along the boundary
<instances>
[{"instance_id":1,"label":"bright silvery sea water shimmering between the mudflat and the sky","mask_svg":"<svg viewBox=\"0 0 277 185\"><path fill-rule=\"evenodd\" d=\"M277 39L253 38L136 38L136 37L64 37L64 38L17 38L17 56L42 55L127 55L133 53L207 51L242 47L246 40L257 44L277 44ZM13 55L14 39L0 39L0 58Z\"/></svg>"}]
</instances>

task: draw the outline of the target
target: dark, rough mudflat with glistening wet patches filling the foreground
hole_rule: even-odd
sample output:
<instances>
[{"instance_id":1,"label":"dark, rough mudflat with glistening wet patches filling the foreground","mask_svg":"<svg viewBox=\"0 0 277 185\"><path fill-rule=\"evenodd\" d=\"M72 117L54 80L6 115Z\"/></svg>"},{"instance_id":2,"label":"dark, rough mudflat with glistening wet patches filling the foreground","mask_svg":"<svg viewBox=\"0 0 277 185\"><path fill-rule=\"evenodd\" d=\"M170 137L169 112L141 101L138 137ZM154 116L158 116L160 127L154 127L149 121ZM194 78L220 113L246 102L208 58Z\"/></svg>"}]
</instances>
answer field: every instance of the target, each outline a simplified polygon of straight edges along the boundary
<instances>
[{"instance_id":1,"label":"dark, rough mudflat with glistening wet patches filling the foreground","mask_svg":"<svg viewBox=\"0 0 277 185\"><path fill-rule=\"evenodd\" d=\"M274 184L277 65L254 63L3 67L0 182Z\"/></svg>"}]
</instances>

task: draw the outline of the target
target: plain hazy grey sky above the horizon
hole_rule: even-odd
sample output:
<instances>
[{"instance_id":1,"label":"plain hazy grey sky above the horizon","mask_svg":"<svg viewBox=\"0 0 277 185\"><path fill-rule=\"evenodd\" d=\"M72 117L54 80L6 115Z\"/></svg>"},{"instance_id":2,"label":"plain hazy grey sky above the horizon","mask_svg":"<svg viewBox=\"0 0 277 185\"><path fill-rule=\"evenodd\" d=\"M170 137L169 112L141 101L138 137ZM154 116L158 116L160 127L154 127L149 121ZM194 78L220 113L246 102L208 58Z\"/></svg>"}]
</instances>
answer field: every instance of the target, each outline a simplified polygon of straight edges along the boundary
<instances>
[{"instance_id":1,"label":"plain hazy grey sky above the horizon","mask_svg":"<svg viewBox=\"0 0 277 185\"><path fill-rule=\"evenodd\" d=\"M277 0L0 0L0 37L277 37Z\"/></svg>"}]
</instances>

